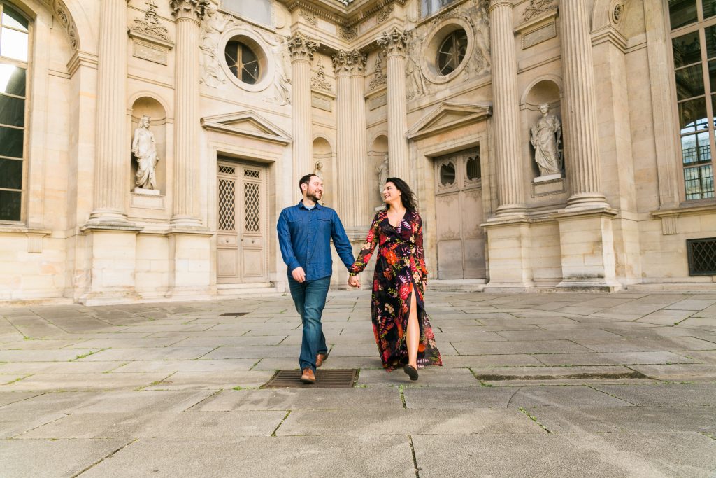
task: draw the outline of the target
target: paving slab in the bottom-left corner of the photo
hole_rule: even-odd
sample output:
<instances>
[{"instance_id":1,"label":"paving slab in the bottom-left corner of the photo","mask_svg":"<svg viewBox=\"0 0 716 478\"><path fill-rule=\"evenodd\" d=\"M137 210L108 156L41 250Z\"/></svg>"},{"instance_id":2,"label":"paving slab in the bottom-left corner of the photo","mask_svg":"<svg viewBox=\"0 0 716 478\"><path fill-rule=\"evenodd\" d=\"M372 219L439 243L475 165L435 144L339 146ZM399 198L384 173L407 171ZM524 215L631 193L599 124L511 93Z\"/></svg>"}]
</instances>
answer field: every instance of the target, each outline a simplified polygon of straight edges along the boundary
<instances>
[{"instance_id":1,"label":"paving slab in the bottom-left corner of the photo","mask_svg":"<svg viewBox=\"0 0 716 478\"><path fill-rule=\"evenodd\" d=\"M0 463L4 478L74 477L127 440L2 440Z\"/></svg>"}]
</instances>

